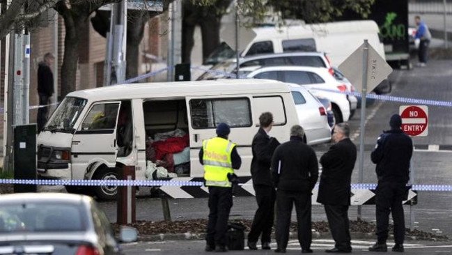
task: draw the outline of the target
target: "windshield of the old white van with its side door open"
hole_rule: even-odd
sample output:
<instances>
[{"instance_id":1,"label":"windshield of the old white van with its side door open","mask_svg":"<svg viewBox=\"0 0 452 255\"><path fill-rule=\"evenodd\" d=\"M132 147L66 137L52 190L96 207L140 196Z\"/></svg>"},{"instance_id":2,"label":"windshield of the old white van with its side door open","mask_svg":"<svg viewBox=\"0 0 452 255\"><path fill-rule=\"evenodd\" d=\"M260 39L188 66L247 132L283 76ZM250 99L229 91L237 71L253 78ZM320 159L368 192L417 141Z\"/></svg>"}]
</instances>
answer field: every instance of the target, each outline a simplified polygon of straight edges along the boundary
<instances>
[{"instance_id":1,"label":"windshield of the old white van with its side door open","mask_svg":"<svg viewBox=\"0 0 452 255\"><path fill-rule=\"evenodd\" d=\"M51 132L72 132L75 122L80 116L88 100L84 98L66 97L56 108L44 130Z\"/></svg>"}]
</instances>

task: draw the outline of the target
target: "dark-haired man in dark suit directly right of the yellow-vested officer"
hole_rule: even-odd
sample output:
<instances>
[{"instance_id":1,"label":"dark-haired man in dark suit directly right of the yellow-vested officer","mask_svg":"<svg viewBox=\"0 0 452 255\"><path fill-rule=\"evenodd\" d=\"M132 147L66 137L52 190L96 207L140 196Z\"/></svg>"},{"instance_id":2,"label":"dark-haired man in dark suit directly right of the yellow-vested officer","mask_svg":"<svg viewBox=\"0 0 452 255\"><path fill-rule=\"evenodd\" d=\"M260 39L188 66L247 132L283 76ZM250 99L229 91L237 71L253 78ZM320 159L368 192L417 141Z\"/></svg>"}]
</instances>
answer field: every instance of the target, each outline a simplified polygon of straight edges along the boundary
<instances>
[{"instance_id":1,"label":"dark-haired man in dark suit directly right of the yellow-vested officer","mask_svg":"<svg viewBox=\"0 0 452 255\"><path fill-rule=\"evenodd\" d=\"M248 234L249 249L258 249L256 243L259 235L262 249L270 249L270 236L274 221L274 201L276 191L272 183L270 164L272 155L279 141L268 134L273 127L273 115L264 112L259 116L259 130L254 135L252 146L253 160L251 160L251 177L258 210L254 215L253 224Z\"/></svg>"}]
</instances>

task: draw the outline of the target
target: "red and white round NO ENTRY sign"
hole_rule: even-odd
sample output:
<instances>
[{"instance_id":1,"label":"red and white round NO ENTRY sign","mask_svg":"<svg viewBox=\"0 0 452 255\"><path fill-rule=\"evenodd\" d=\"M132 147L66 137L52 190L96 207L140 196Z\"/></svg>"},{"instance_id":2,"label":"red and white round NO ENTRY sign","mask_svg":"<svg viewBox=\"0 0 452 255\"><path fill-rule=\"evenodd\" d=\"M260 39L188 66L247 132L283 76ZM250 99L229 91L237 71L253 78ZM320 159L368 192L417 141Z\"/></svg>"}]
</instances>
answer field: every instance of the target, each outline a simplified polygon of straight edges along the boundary
<instances>
[{"instance_id":1,"label":"red and white round NO ENTRY sign","mask_svg":"<svg viewBox=\"0 0 452 255\"><path fill-rule=\"evenodd\" d=\"M412 137L428 135L428 107L426 105L403 105L399 108L402 131Z\"/></svg>"}]
</instances>

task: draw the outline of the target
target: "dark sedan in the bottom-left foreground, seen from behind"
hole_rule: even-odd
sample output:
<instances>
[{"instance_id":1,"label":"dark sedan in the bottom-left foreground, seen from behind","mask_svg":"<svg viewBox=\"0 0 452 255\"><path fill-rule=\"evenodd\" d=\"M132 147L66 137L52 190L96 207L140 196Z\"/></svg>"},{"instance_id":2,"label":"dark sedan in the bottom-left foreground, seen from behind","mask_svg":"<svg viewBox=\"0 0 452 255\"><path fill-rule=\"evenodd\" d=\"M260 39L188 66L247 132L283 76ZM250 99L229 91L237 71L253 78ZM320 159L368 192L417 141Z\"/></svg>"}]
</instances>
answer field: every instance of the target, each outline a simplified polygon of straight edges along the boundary
<instances>
[{"instance_id":1,"label":"dark sedan in the bottom-left foreground, seen from behind","mask_svg":"<svg viewBox=\"0 0 452 255\"><path fill-rule=\"evenodd\" d=\"M136 239L135 231L128 241ZM51 192L0 196L0 251L123 254L109 219L90 196Z\"/></svg>"}]
</instances>

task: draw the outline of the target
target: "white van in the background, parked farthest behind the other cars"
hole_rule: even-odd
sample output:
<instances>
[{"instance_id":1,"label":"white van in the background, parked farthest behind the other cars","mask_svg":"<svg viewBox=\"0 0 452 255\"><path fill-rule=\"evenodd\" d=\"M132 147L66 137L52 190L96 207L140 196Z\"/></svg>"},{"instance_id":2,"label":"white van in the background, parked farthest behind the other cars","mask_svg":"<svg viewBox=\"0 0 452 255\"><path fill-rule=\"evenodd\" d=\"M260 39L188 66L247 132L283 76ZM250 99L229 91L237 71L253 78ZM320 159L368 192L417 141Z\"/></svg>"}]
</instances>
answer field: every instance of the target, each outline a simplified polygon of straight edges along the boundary
<instances>
[{"instance_id":1,"label":"white van in the background, parked farthest behind the other cars","mask_svg":"<svg viewBox=\"0 0 452 255\"><path fill-rule=\"evenodd\" d=\"M384 59L384 45L380 41L377 23L355 20L297 26L265 26L254 28L256 37L240 56L282 52L326 52L333 66L340 65L367 39ZM204 61L214 65L235 57L231 47L222 44ZM195 77L196 78L196 77Z\"/></svg>"}]
</instances>

